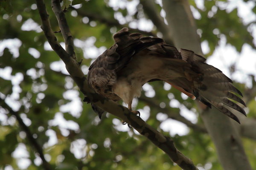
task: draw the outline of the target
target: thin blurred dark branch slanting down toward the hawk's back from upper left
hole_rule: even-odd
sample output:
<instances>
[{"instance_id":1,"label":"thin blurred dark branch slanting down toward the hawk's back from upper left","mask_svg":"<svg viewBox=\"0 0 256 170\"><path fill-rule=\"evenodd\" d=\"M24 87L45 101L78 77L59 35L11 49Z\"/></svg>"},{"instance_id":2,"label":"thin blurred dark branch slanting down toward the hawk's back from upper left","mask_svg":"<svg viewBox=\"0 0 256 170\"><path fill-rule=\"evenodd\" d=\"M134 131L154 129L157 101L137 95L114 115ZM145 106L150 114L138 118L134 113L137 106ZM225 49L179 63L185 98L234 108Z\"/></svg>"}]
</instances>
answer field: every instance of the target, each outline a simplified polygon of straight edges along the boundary
<instances>
[{"instance_id":1,"label":"thin blurred dark branch slanting down toward the hawk's back from upper left","mask_svg":"<svg viewBox=\"0 0 256 170\"><path fill-rule=\"evenodd\" d=\"M120 24L117 20L108 19L108 18L106 18L106 17L104 17L104 16L102 16L98 13L90 13L88 11L84 11L81 8L76 9L72 6L70 6L69 9L77 11L77 14L81 17L88 17L90 20L96 20L96 21L99 21L101 23L105 23L108 26L116 26L118 28L129 27L128 24ZM153 32L142 31L142 30L139 30L139 29L133 29L133 30L135 32L139 32L139 33L144 34L144 35L157 37L156 34L154 34Z\"/></svg>"}]
</instances>

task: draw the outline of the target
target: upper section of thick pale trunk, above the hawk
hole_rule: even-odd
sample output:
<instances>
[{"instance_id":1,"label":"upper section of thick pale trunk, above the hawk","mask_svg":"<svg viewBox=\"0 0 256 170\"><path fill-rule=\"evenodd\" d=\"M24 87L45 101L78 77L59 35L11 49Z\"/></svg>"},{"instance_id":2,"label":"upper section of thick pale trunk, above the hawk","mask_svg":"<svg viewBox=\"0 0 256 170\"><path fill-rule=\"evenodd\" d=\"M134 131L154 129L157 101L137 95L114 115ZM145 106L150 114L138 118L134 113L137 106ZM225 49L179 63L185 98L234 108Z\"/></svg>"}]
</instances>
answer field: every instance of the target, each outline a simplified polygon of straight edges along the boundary
<instances>
[{"instance_id":1,"label":"upper section of thick pale trunk, above the hawk","mask_svg":"<svg viewBox=\"0 0 256 170\"><path fill-rule=\"evenodd\" d=\"M163 0L168 30L176 48L193 50L202 54L200 37L188 0Z\"/></svg>"}]
</instances>

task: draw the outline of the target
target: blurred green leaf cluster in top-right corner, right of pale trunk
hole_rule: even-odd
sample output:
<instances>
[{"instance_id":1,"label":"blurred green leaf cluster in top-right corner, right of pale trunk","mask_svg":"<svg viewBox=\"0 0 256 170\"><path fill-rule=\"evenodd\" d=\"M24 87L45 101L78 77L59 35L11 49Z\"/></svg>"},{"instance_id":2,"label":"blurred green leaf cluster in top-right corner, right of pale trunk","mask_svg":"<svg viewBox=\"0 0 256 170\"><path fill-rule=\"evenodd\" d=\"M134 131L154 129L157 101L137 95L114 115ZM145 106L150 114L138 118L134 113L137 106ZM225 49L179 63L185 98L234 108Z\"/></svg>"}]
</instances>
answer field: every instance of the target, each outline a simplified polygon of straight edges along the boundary
<instances>
[{"instance_id":1,"label":"blurred green leaf cluster in top-right corner, right of pale trunk","mask_svg":"<svg viewBox=\"0 0 256 170\"><path fill-rule=\"evenodd\" d=\"M225 9L229 2L227 0L205 0L204 8L198 8L195 1L191 0L191 5L200 13L196 20L197 26L201 29L201 41L209 43L210 51L213 53L218 46L221 36L227 39L227 44L233 45L238 52L241 52L244 43L256 48L253 43L252 32L249 32L251 24L244 24L238 15L237 8L232 11Z\"/></svg>"}]
</instances>

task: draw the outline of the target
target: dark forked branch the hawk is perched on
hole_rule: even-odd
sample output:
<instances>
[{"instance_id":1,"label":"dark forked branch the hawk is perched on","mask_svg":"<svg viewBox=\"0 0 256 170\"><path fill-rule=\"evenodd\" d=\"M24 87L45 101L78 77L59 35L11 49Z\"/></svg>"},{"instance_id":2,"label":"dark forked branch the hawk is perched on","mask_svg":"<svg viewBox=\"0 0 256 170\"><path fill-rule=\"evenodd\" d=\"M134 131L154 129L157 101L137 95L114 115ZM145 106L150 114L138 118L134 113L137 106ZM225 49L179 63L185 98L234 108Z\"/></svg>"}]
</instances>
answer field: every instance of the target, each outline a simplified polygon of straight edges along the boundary
<instances>
[{"instance_id":1,"label":"dark forked branch the hawk is perched on","mask_svg":"<svg viewBox=\"0 0 256 170\"><path fill-rule=\"evenodd\" d=\"M103 110L118 116L120 119L127 122L134 127L141 135L154 143L157 147L163 150L169 157L184 170L198 170L193 164L192 160L180 153L174 145L172 139L164 136L153 127L149 126L139 116L128 110L128 108L106 99L97 94L88 84L86 77L81 71L79 62L76 61L76 54L73 47L73 37L70 33L67 20L64 12L61 10L60 1L52 0L52 9L57 17L61 33L65 40L66 51L59 45L49 22L49 15L47 14L44 0L36 0L38 11L41 16L42 29L52 49L64 61L67 71L78 85L80 91L87 96L93 104L99 106Z\"/></svg>"}]
</instances>

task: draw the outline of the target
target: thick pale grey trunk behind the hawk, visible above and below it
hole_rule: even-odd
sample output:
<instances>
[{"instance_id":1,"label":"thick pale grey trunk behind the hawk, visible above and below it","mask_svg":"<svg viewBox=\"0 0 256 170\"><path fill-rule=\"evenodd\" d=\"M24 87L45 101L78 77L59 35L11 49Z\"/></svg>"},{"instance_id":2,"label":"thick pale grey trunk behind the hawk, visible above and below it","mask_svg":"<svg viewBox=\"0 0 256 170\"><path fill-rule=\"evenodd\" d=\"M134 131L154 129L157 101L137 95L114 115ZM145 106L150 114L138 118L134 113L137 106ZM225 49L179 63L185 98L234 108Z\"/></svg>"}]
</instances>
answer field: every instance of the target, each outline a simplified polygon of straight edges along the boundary
<instances>
[{"instance_id":1,"label":"thick pale grey trunk behind the hawk, visible above and below it","mask_svg":"<svg viewBox=\"0 0 256 170\"><path fill-rule=\"evenodd\" d=\"M196 33L195 21L187 0L163 0L166 19L172 31L175 45L198 54L201 44ZM215 109L203 110L201 117L217 149L218 158L225 170L251 170L241 143L238 130L230 118Z\"/></svg>"}]
</instances>

